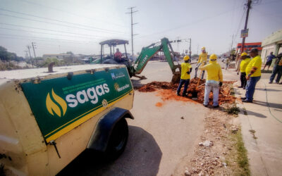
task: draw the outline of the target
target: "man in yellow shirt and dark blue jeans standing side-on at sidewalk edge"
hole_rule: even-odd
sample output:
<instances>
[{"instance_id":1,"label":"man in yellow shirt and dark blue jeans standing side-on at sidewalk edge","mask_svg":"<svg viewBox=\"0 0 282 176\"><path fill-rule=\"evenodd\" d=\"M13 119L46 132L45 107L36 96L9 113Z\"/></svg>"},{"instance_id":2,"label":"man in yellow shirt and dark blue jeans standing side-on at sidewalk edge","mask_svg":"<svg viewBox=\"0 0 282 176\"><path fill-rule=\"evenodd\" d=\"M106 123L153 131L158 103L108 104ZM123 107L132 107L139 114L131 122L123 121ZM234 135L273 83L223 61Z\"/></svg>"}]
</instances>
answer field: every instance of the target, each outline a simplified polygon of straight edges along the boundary
<instances>
[{"instance_id":1,"label":"man in yellow shirt and dark blue jeans standing side-on at sidewalk edge","mask_svg":"<svg viewBox=\"0 0 282 176\"><path fill-rule=\"evenodd\" d=\"M246 67L246 96L241 98L245 103L252 103L253 96L255 93L255 86L261 77L261 69L262 69L262 58L259 56L258 49L252 49L250 51L250 56L252 60L247 64Z\"/></svg>"}]
</instances>

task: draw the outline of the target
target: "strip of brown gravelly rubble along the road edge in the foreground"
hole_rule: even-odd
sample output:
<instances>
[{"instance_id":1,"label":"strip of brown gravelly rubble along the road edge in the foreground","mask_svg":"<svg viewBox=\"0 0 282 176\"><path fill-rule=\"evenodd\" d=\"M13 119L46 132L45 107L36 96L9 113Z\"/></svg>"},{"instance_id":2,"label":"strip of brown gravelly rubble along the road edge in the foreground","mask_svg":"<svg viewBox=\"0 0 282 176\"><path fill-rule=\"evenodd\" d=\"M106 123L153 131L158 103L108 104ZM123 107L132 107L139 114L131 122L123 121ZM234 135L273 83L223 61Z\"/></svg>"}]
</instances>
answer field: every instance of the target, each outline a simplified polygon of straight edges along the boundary
<instances>
[{"instance_id":1,"label":"strip of brown gravelly rubble along the road edge in the foreground","mask_svg":"<svg viewBox=\"0 0 282 176\"><path fill-rule=\"evenodd\" d=\"M218 110L207 115L204 133L183 171L184 175L233 175L231 168L237 164L228 155L235 150L235 144L228 140L228 135L236 133L238 127L229 123L231 118Z\"/></svg>"}]
</instances>

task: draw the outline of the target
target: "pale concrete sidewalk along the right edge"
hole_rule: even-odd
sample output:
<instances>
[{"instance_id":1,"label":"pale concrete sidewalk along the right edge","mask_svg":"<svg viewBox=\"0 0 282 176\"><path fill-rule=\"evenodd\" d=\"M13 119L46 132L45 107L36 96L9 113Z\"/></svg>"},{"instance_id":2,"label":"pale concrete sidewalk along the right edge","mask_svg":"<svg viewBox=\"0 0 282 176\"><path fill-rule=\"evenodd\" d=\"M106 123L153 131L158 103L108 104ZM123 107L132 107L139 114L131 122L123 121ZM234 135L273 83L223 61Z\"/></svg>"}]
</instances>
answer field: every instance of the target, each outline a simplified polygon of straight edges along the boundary
<instances>
[{"instance_id":1,"label":"pale concrete sidewalk along the right edge","mask_svg":"<svg viewBox=\"0 0 282 176\"><path fill-rule=\"evenodd\" d=\"M269 76L262 74L253 103L238 103L245 108L239 118L252 175L282 175L282 85L269 84ZM239 89L239 84L238 78L234 84L235 92L238 97L243 97L245 90ZM255 134L250 130L255 130Z\"/></svg>"}]
</instances>

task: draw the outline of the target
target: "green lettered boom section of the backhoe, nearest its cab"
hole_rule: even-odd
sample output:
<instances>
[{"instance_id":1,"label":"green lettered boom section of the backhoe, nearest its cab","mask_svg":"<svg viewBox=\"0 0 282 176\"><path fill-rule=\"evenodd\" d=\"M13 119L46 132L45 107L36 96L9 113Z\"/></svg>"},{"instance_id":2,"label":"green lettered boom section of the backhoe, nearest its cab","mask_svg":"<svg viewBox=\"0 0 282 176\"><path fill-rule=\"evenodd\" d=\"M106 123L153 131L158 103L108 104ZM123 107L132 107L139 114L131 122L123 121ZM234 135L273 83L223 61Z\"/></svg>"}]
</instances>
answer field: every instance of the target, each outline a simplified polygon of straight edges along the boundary
<instances>
[{"instance_id":1,"label":"green lettered boom section of the backhoe, nearest its cab","mask_svg":"<svg viewBox=\"0 0 282 176\"><path fill-rule=\"evenodd\" d=\"M135 64L137 64L135 68L136 74L140 74L142 72L142 70L147 65L147 62L149 61L149 59L152 58L152 56L154 56L154 54L156 54L157 51L159 51L159 49L161 49L161 46L154 46L152 48L149 48L149 47L142 48L140 55L138 56L138 58L135 61Z\"/></svg>"}]
</instances>

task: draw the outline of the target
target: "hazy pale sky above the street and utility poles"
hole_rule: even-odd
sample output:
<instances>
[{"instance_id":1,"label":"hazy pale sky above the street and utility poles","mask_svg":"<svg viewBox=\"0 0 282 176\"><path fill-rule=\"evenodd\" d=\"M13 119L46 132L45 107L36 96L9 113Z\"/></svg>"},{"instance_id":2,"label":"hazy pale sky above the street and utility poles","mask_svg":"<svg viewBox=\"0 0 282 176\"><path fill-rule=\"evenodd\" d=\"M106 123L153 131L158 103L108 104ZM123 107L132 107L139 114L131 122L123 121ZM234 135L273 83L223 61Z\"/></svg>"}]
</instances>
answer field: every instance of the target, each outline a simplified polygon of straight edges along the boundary
<instances>
[{"instance_id":1,"label":"hazy pale sky above the street and utility poles","mask_svg":"<svg viewBox=\"0 0 282 176\"><path fill-rule=\"evenodd\" d=\"M130 41L128 7L136 6L133 21L135 53L163 37L192 38L192 54L206 46L209 54L221 54L240 39L246 0L0 0L0 46L24 56L36 43L37 56L73 51L98 54L105 39ZM246 42L262 42L282 28L282 1L259 0L250 11ZM16 13L15 13L16 12ZM188 42L173 44L182 53ZM131 45L128 45L128 52ZM32 54L33 55L33 54Z\"/></svg>"}]
</instances>

